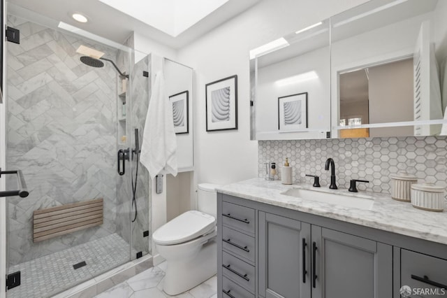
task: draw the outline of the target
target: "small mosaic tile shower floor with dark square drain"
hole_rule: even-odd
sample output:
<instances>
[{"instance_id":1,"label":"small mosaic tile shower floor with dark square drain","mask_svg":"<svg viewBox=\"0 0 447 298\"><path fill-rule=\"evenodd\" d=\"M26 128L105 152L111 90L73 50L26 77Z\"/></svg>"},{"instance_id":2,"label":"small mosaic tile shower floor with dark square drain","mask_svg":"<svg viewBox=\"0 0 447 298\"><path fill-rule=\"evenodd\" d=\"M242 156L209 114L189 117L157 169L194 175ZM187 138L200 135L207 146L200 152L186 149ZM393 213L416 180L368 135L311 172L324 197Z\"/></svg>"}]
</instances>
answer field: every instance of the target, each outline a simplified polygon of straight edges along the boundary
<instances>
[{"instance_id":1,"label":"small mosaic tile shower floor with dark square drain","mask_svg":"<svg viewBox=\"0 0 447 298\"><path fill-rule=\"evenodd\" d=\"M87 266L73 269L74 264L82 261ZM129 243L118 234L111 234L10 267L9 273L21 272L21 285L8 290L6 297L50 297L125 262L129 262Z\"/></svg>"}]
</instances>

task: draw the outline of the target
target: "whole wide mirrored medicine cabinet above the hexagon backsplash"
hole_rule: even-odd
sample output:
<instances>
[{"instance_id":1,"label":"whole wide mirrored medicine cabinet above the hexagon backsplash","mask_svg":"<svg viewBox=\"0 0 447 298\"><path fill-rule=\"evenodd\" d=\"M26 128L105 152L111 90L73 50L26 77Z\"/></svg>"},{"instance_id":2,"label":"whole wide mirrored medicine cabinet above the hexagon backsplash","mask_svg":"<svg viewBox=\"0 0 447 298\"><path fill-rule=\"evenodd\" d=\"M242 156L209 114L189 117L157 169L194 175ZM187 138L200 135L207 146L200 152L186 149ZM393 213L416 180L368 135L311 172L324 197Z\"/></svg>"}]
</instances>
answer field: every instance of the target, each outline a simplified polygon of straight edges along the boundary
<instances>
[{"instance_id":1,"label":"whole wide mirrored medicine cabinet above the hexagon backsplash","mask_svg":"<svg viewBox=\"0 0 447 298\"><path fill-rule=\"evenodd\" d=\"M445 15L372 0L251 50L251 139L447 135Z\"/></svg>"}]
</instances>

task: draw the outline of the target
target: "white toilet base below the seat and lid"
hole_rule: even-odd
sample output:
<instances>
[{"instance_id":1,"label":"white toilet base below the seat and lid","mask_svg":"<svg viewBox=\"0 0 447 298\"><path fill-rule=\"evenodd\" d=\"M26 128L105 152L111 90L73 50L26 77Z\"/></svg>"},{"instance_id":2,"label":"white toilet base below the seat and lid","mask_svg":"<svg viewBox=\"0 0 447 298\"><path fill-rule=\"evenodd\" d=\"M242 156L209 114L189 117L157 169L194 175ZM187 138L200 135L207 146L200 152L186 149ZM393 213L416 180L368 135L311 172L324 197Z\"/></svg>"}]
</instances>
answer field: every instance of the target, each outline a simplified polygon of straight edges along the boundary
<instances>
[{"instance_id":1,"label":"white toilet base below the seat and lid","mask_svg":"<svg viewBox=\"0 0 447 298\"><path fill-rule=\"evenodd\" d=\"M200 285L217 273L217 243L205 243L194 257L188 260L166 260L167 268L163 290L178 295Z\"/></svg>"}]
</instances>

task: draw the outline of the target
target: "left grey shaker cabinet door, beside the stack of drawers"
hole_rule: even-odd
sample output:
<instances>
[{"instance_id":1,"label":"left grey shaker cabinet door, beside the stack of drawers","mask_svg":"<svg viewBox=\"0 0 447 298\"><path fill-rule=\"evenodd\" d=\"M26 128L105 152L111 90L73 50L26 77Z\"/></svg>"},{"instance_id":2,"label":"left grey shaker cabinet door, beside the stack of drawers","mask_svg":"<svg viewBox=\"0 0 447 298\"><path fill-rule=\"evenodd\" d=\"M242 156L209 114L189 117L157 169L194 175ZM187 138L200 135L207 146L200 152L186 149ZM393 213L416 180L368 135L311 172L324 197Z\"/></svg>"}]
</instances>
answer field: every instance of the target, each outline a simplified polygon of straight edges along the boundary
<instances>
[{"instance_id":1,"label":"left grey shaker cabinet door, beside the stack of drawers","mask_svg":"<svg viewBox=\"0 0 447 298\"><path fill-rule=\"evenodd\" d=\"M310 297L310 225L265 212L258 218L259 296Z\"/></svg>"}]
</instances>

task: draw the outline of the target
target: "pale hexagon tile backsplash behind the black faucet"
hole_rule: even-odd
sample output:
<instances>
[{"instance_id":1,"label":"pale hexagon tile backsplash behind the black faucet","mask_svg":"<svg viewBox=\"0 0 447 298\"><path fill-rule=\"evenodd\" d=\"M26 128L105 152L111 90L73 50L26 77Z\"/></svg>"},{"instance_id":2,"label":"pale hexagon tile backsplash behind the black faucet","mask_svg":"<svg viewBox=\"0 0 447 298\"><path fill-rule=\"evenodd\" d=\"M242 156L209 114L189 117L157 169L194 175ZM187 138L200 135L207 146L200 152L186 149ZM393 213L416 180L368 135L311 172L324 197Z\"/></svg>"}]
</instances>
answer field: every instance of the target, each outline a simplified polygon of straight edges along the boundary
<instances>
[{"instance_id":1,"label":"pale hexagon tile backsplash behind the black faucet","mask_svg":"<svg viewBox=\"0 0 447 298\"><path fill-rule=\"evenodd\" d=\"M418 182L432 182L447 187L447 137L399 137L371 139L321 139L298 141L259 141L258 176L265 177L265 162L277 163L276 179L286 157L293 166L293 181L312 184L320 176L321 186L330 183L330 171L324 165L328 157L335 162L339 188L349 188L349 180L358 190L390 193L390 174L399 171L416 174Z\"/></svg>"}]
</instances>

